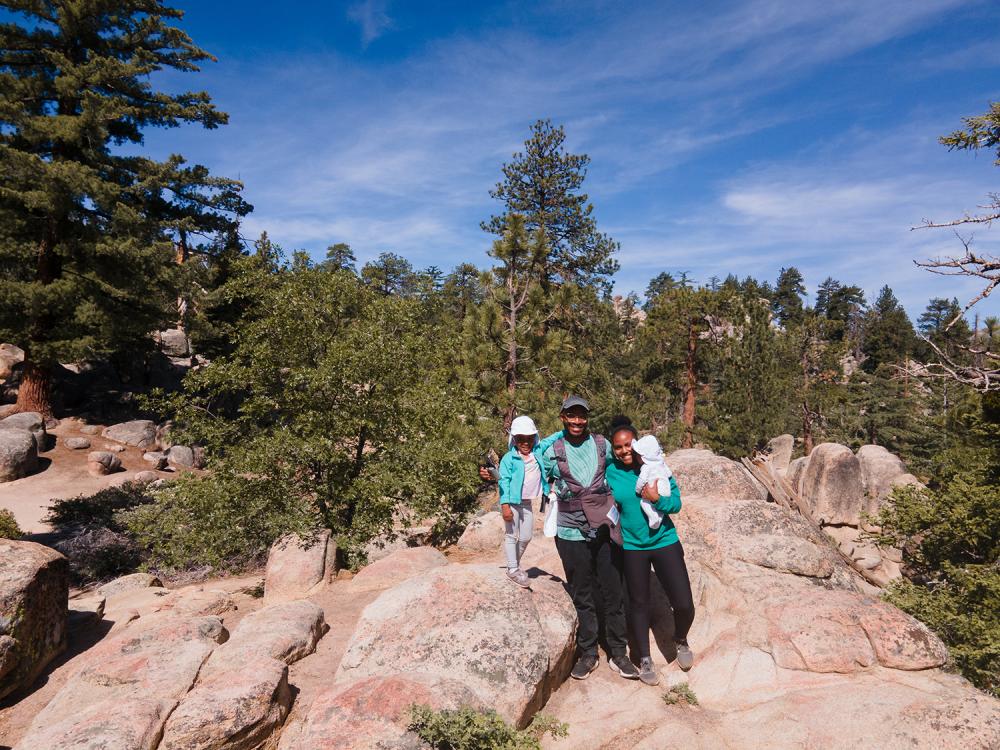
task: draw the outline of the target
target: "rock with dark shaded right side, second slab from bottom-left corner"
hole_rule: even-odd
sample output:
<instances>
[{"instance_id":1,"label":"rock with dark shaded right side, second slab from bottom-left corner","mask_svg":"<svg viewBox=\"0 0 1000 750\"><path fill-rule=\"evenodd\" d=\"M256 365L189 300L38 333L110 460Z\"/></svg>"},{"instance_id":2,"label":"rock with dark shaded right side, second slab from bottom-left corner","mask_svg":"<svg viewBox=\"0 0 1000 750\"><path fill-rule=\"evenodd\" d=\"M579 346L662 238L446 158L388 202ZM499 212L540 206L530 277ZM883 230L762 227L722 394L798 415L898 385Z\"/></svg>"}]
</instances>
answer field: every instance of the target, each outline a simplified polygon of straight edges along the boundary
<instances>
[{"instance_id":1,"label":"rock with dark shaded right side, second slab from bottom-left corner","mask_svg":"<svg viewBox=\"0 0 1000 750\"><path fill-rule=\"evenodd\" d=\"M170 714L160 750L259 747L288 715L288 666L253 658L232 671L199 678Z\"/></svg>"}]
</instances>

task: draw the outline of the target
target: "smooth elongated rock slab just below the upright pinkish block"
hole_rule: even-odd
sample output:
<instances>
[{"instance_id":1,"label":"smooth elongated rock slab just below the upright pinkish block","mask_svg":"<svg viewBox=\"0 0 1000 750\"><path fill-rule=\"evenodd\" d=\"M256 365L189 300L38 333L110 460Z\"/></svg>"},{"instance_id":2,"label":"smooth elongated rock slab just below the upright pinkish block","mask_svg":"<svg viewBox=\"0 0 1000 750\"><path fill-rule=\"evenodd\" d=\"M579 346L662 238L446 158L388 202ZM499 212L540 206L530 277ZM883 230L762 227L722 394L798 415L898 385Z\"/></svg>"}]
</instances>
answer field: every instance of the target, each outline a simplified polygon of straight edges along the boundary
<instances>
[{"instance_id":1,"label":"smooth elongated rock slab just below the upright pinkish block","mask_svg":"<svg viewBox=\"0 0 1000 750\"><path fill-rule=\"evenodd\" d=\"M282 602L251 612L212 654L206 673L227 672L259 658L292 664L316 650L327 631L323 609L310 601Z\"/></svg>"}]
</instances>

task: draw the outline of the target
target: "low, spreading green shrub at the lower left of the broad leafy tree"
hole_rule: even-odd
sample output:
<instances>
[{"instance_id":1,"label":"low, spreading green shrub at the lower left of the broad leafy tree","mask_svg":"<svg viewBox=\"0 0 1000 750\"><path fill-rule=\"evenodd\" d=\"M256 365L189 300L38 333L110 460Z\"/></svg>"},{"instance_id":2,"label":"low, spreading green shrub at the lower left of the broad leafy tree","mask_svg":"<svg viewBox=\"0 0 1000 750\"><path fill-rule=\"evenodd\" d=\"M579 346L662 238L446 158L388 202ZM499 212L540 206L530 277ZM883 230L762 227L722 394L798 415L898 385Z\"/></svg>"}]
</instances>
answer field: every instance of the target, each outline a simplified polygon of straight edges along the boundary
<instances>
[{"instance_id":1,"label":"low, spreading green shrub at the lower left of the broad leafy tree","mask_svg":"<svg viewBox=\"0 0 1000 750\"><path fill-rule=\"evenodd\" d=\"M238 571L263 562L289 532L308 535L319 523L313 505L280 482L233 475L186 476L156 490L154 502L117 516L165 571L210 566Z\"/></svg>"}]
</instances>

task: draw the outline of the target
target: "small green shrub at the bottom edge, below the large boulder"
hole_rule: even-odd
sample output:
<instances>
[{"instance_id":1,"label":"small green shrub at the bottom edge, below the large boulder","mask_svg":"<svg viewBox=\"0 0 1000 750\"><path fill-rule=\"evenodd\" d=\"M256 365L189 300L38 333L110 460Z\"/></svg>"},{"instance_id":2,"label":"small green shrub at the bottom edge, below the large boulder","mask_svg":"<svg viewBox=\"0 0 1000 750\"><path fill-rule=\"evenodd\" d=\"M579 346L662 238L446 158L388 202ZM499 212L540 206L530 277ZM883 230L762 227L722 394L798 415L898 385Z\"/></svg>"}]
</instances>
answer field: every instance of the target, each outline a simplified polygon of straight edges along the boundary
<instances>
[{"instance_id":1,"label":"small green shrub at the bottom edge, below the large boulder","mask_svg":"<svg viewBox=\"0 0 1000 750\"><path fill-rule=\"evenodd\" d=\"M566 724L538 714L527 729L515 729L496 711L473 708L410 709L410 730L435 750L538 750L546 734L565 737Z\"/></svg>"}]
</instances>

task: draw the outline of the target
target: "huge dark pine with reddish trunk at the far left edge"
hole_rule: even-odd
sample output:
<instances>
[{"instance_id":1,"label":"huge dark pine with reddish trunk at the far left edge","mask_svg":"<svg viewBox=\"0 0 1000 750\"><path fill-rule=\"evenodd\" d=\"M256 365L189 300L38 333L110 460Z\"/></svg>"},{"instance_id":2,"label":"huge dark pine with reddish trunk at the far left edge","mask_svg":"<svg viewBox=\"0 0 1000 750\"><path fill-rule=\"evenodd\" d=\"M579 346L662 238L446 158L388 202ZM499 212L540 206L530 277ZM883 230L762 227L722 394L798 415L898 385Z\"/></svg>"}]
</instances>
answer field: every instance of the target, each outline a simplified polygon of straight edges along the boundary
<instances>
[{"instance_id":1,"label":"huge dark pine with reddish trunk at the far left edge","mask_svg":"<svg viewBox=\"0 0 1000 750\"><path fill-rule=\"evenodd\" d=\"M177 316L173 242L249 212L238 182L126 154L149 127L225 124L150 77L212 59L158 0L10 0L0 24L0 339L25 350L17 408L51 413L62 360L141 349ZM186 239L185 239L186 241Z\"/></svg>"}]
</instances>

